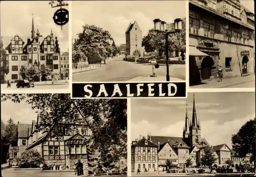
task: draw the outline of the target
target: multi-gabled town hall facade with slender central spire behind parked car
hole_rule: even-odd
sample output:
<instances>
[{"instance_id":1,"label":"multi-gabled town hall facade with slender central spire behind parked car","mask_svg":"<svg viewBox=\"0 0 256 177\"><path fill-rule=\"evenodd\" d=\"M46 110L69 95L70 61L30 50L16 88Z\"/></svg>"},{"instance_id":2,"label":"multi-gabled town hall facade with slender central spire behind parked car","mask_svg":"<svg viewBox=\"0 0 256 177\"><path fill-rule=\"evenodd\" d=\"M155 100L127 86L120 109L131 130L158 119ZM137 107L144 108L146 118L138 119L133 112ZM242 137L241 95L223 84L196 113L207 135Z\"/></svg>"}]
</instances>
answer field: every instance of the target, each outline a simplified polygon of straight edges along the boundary
<instances>
[{"instance_id":1,"label":"multi-gabled town hall facade with slender central spire behind parked car","mask_svg":"<svg viewBox=\"0 0 256 177\"><path fill-rule=\"evenodd\" d=\"M4 80L15 82L16 80L23 79L19 75L19 69L23 65L32 66L37 65L40 67L42 64L49 66L52 69L52 77L59 76L59 44L57 37L53 37L53 33L43 38L39 30L35 33L34 21L32 19L31 37L25 42L18 35L11 39L9 45L5 47L3 56L3 71ZM2 66L2 65L1 65ZM46 74L35 75L31 78L34 81L45 81Z\"/></svg>"}]
</instances>

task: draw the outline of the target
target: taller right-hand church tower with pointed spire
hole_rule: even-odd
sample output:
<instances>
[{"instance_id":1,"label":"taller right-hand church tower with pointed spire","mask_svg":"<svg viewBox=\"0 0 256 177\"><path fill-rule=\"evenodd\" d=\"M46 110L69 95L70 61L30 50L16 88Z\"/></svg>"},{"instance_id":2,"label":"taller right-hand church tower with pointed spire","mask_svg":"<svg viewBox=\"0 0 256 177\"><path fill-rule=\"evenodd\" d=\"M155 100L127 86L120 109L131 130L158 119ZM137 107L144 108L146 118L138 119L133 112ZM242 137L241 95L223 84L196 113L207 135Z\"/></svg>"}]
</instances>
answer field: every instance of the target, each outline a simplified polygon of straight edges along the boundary
<instances>
[{"instance_id":1,"label":"taller right-hand church tower with pointed spire","mask_svg":"<svg viewBox=\"0 0 256 177\"><path fill-rule=\"evenodd\" d=\"M189 126L189 140L190 145L195 146L201 141L201 127L199 120L197 119L196 104L195 104L195 93L193 95L193 115L192 122Z\"/></svg>"}]
</instances>

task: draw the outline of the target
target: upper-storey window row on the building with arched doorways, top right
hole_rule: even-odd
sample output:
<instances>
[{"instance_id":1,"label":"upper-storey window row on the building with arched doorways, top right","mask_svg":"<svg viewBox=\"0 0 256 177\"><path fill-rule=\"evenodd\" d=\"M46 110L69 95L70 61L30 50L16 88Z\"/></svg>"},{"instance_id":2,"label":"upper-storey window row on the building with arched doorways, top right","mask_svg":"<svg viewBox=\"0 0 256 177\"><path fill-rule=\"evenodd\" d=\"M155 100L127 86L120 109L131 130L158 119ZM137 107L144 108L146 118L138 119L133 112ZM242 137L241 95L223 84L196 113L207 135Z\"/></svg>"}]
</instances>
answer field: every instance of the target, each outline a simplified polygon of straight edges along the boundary
<instances>
[{"instance_id":1,"label":"upper-storey window row on the building with arched doorways, top right","mask_svg":"<svg viewBox=\"0 0 256 177\"><path fill-rule=\"evenodd\" d=\"M193 28L193 31L192 29ZM204 36L206 37L215 37L215 26L214 24L210 24L207 22L203 22L204 28ZM200 29L200 20L196 18L189 17L189 33L199 35ZM233 37L233 41L232 41ZM243 38L243 40L241 40ZM232 31L232 30L225 30L224 31L224 40L229 42L237 42L243 44L249 44L250 35L248 33L244 33L243 36L241 33Z\"/></svg>"}]
</instances>

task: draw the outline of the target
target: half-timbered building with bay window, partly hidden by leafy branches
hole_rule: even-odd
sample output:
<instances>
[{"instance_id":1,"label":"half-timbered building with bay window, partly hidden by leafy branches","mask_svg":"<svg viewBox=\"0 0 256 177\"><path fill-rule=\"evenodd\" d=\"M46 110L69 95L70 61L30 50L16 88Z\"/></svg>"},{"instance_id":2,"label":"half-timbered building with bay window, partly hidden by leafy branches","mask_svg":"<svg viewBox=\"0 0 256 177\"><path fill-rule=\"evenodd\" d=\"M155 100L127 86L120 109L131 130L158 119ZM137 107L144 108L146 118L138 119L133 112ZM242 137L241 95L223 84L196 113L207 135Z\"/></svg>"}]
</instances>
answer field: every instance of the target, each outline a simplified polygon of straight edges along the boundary
<instances>
[{"instance_id":1,"label":"half-timbered building with bay window, partly hidden by leafy branches","mask_svg":"<svg viewBox=\"0 0 256 177\"><path fill-rule=\"evenodd\" d=\"M72 116L72 115L70 115ZM31 124L17 123L17 146L10 146L10 161L15 162L15 158L20 157L22 153L29 149L38 151L44 159L49 170L73 169L79 159L83 163L84 174L88 174L88 154L85 145L86 138L91 135L87 125L79 123L65 124L61 137L51 135L51 130L47 133L39 131L37 121ZM55 124L57 126L57 124ZM59 125L58 125L59 126ZM70 133L66 128L75 127L77 132ZM66 128L65 128L66 127Z\"/></svg>"}]
</instances>

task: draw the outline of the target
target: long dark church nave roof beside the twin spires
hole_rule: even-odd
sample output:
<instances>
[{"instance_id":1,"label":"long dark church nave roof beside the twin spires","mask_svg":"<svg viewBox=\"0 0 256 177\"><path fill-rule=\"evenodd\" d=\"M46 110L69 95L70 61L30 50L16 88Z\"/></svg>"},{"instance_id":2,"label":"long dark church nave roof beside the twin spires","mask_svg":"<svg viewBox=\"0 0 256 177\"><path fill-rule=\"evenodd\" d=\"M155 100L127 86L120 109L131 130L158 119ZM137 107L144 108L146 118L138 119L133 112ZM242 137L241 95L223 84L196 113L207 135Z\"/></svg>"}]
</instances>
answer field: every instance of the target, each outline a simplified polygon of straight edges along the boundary
<instances>
[{"instance_id":1,"label":"long dark church nave roof beside the twin spires","mask_svg":"<svg viewBox=\"0 0 256 177\"><path fill-rule=\"evenodd\" d=\"M155 144L158 144L158 142L160 144L163 144L169 141L169 144L171 145L176 144L178 142L178 144L184 144L184 146L189 147L181 137L151 136L151 140Z\"/></svg>"}]
</instances>

